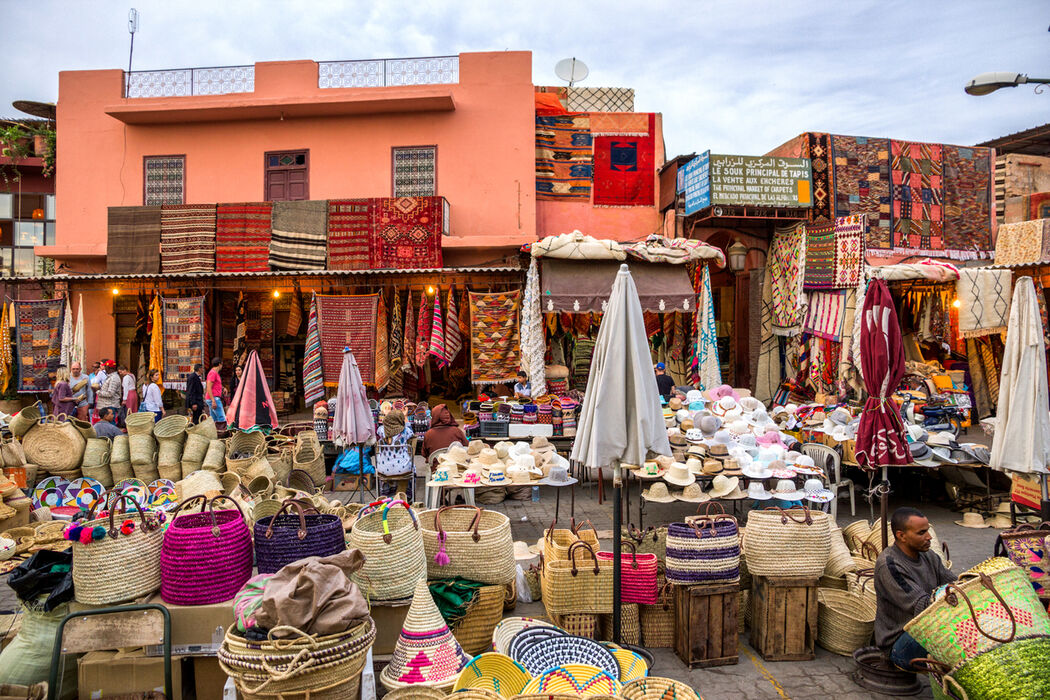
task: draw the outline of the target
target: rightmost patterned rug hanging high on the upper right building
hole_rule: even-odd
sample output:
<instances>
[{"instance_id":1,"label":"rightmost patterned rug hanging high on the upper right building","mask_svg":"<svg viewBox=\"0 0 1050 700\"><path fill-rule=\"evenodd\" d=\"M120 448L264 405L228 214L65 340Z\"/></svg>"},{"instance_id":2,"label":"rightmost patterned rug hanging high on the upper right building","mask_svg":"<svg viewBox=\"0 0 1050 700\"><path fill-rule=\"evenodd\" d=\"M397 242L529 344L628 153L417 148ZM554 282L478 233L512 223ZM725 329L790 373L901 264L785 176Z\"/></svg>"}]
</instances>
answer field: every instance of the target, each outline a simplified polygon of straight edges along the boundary
<instances>
[{"instance_id":1,"label":"rightmost patterned rug hanging high on the upper right building","mask_svg":"<svg viewBox=\"0 0 1050 700\"><path fill-rule=\"evenodd\" d=\"M945 252L957 259L988 257L992 248L991 149L944 146L943 155Z\"/></svg>"}]
</instances>

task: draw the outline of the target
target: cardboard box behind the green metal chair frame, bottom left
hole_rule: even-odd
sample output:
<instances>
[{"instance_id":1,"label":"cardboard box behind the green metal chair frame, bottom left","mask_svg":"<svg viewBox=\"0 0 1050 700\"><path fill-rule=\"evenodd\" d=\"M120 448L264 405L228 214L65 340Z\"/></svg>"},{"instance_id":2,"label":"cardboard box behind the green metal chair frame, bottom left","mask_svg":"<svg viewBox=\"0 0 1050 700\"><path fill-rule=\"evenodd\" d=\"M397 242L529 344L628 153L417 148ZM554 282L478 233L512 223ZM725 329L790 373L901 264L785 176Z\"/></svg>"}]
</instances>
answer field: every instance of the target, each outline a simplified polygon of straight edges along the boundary
<instances>
[{"instance_id":1,"label":"cardboard box behind the green metal chair frame, bottom left","mask_svg":"<svg viewBox=\"0 0 1050 700\"><path fill-rule=\"evenodd\" d=\"M164 693L164 659L133 652L88 652L78 662L80 700L158 691ZM171 657L172 698L183 697L182 659Z\"/></svg>"}]
</instances>

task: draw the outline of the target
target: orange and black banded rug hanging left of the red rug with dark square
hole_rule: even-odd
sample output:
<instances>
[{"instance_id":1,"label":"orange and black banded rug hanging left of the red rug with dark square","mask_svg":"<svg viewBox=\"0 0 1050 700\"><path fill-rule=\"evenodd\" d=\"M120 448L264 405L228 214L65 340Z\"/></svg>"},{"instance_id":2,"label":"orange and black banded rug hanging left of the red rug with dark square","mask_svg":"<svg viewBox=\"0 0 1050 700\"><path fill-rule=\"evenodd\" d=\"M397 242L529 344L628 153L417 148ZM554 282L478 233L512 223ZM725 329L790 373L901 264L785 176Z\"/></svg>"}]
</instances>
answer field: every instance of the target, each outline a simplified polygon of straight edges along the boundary
<instances>
[{"instance_id":1,"label":"orange and black banded rug hanging left of the red rug with dark square","mask_svg":"<svg viewBox=\"0 0 1050 700\"><path fill-rule=\"evenodd\" d=\"M588 201L594 176L587 114L536 118L536 198Z\"/></svg>"}]
</instances>

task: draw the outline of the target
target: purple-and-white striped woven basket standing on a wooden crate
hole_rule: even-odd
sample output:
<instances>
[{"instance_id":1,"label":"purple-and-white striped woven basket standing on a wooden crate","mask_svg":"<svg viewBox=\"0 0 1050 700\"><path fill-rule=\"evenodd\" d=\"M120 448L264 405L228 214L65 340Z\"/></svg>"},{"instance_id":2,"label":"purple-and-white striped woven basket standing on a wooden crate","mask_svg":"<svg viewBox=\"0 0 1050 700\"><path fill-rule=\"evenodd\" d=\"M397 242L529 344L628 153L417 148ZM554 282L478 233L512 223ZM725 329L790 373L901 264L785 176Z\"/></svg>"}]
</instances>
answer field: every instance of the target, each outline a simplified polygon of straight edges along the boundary
<instances>
[{"instance_id":1,"label":"purple-and-white striped woven basket standing on a wooden crate","mask_svg":"<svg viewBox=\"0 0 1050 700\"><path fill-rule=\"evenodd\" d=\"M667 580L676 586L731 584L740 579L736 518L709 515L667 526Z\"/></svg>"}]
</instances>

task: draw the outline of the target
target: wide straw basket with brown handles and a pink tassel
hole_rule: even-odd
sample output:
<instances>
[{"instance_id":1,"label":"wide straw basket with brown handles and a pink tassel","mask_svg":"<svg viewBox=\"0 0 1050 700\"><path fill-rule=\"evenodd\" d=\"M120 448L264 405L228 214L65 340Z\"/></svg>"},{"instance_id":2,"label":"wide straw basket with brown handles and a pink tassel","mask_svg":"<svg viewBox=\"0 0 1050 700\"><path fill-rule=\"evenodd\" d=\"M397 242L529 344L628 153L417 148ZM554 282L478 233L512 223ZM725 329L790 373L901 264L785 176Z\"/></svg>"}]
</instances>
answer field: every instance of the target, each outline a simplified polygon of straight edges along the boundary
<instances>
[{"instance_id":1,"label":"wide straw basket with brown handles and a pink tassel","mask_svg":"<svg viewBox=\"0 0 1050 700\"><path fill-rule=\"evenodd\" d=\"M514 577L510 519L503 513L476 506L445 506L421 513L419 524L428 578L462 576L502 586Z\"/></svg>"}]
</instances>

